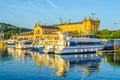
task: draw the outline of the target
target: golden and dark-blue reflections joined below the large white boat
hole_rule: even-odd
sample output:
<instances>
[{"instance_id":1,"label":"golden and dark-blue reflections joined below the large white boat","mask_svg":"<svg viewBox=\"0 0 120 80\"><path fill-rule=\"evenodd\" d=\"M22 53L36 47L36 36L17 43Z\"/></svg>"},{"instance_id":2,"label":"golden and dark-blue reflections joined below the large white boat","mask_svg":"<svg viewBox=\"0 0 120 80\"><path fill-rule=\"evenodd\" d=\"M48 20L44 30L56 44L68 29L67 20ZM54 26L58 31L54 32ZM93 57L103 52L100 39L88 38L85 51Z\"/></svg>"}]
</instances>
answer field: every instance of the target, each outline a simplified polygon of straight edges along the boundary
<instances>
[{"instance_id":1,"label":"golden and dark-blue reflections joined below the large white boat","mask_svg":"<svg viewBox=\"0 0 120 80\"><path fill-rule=\"evenodd\" d=\"M99 70L99 62L102 58L97 54L77 54L77 55L48 55L31 53L37 66L46 65L56 69L56 75L65 77L72 68L82 71L83 74L90 74Z\"/></svg>"}]
</instances>

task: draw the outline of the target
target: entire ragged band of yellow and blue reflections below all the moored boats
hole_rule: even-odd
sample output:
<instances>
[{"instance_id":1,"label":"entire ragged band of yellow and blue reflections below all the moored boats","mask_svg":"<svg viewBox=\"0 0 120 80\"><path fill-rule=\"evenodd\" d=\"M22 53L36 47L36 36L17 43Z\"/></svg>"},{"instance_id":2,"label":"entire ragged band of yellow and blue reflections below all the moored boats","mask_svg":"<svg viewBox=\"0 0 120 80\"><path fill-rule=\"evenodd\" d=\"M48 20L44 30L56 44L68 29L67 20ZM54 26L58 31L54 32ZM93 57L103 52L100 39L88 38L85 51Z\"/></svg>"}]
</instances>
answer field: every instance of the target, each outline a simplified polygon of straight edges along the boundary
<instances>
[{"instance_id":1,"label":"entire ragged band of yellow and blue reflections below all the moored boats","mask_svg":"<svg viewBox=\"0 0 120 80\"><path fill-rule=\"evenodd\" d=\"M10 56L8 60L15 59L26 61L29 57L32 57L36 66L42 66L40 68L46 66L47 68L54 70L54 76L66 77L68 76L68 73L74 73L74 71L77 71L75 73L82 75L82 78L84 78L85 75L93 75L96 74L96 72L99 72L99 63L103 57L102 55L97 54L40 54L39 52L14 48L7 48L7 52L4 53L4 55L6 55L5 57ZM32 64L30 64L30 66L31 65Z\"/></svg>"}]
</instances>

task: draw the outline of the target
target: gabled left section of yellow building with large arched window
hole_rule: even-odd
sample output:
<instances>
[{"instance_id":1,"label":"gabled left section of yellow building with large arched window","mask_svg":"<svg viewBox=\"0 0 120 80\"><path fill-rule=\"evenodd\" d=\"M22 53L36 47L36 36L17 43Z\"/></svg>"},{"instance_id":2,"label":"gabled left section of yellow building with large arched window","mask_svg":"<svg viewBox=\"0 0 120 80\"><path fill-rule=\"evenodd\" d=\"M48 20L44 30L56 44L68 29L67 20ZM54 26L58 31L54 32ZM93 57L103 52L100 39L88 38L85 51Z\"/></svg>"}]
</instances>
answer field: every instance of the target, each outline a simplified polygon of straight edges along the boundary
<instances>
[{"instance_id":1,"label":"gabled left section of yellow building with large arched window","mask_svg":"<svg viewBox=\"0 0 120 80\"><path fill-rule=\"evenodd\" d=\"M58 37L57 33L60 31L58 27L55 26L43 26L39 24L35 24L34 26L34 38L35 39L42 39L44 37L47 38L55 38Z\"/></svg>"}]
</instances>

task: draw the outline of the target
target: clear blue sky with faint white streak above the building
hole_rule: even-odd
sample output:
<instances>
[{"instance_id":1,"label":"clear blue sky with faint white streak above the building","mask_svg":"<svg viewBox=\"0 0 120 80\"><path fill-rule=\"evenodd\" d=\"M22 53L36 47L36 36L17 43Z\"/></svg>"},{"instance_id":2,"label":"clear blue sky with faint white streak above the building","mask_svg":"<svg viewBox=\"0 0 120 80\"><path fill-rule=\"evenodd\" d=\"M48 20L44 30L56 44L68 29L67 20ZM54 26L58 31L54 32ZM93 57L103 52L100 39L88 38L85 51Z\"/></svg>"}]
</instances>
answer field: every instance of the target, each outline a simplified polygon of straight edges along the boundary
<instances>
[{"instance_id":1,"label":"clear blue sky with faint white streak above the building","mask_svg":"<svg viewBox=\"0 0 120 80\"><path fill-rule=\"evenodd\" d=\"M100 29L120 29L120 0L0 0L0 22L33 28L35 23L79 22L95 13Z\"/></svg>"}]
</instances>

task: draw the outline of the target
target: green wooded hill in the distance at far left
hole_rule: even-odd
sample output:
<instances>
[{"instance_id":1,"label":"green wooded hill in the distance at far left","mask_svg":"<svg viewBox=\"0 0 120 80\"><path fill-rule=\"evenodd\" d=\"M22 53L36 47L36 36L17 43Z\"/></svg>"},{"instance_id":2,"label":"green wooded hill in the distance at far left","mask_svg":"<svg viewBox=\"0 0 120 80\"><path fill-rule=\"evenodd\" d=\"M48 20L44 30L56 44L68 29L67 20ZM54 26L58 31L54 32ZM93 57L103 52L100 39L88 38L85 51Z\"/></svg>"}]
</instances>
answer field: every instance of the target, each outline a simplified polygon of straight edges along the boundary
<instances>
[{"instance_id":1,"label":"green wooded hill in the distance at far left","mask_svg":"<svg viewBox=\"0 0 120 80\"><path fill-rule=\"evenodd\" d=\"M4 32L4 34L5 34L5 39L10 38L12 34L32 31L32 29L21 28L18 26L7 24L7 23L0 23L0 25L2 28L2 32Z\"/></svg>"}]
</instances>

